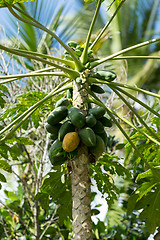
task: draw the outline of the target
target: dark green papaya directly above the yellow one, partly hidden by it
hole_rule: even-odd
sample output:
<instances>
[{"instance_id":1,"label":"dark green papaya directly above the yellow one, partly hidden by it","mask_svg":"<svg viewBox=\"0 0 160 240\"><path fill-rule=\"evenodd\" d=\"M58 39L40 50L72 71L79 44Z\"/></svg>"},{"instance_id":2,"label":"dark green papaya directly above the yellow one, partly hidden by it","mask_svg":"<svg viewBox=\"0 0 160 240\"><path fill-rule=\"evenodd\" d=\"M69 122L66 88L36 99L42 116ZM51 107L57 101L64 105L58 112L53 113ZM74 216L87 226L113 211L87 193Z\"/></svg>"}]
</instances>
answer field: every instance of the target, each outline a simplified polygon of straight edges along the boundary
<instances>
[{"instance_id":1,"label":"dark green papaya directly above the yellow one, partly hidden by it","mask_svg":"<svg viewBox=\"0 0 160 240\"><path fill-rule=\"evenodd\" d=\"M69 133L69 132L74 132L75 131L75 127L73 126L73 124L71 123L70 120L65 121L62 126L59 129L58 132L58 139L62 142L64 136Z\"/></svg>"}]
</instances>

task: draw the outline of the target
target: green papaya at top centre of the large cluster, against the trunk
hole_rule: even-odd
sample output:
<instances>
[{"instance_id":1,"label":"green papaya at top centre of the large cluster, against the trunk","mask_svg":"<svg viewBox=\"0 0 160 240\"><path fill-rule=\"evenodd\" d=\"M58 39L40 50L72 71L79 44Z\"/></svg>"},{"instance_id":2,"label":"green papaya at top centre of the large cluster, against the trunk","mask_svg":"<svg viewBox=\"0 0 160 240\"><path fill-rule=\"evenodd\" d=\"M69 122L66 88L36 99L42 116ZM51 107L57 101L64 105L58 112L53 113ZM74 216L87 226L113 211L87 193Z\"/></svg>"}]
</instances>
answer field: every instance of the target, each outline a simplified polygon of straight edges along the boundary
<instances>
[{"instance_id":1,"label":"green papaya at top centre of the large cluster, against the trunk","mask_svg":"<svg viewBox=\"0 0 160 240\"><path fill-rule=\"evenodd\" d=\"M79 108L71 107L68 110L68 117L77 128L82 128L85 124L85 116Z\"/></svg>"}]
</instances>

